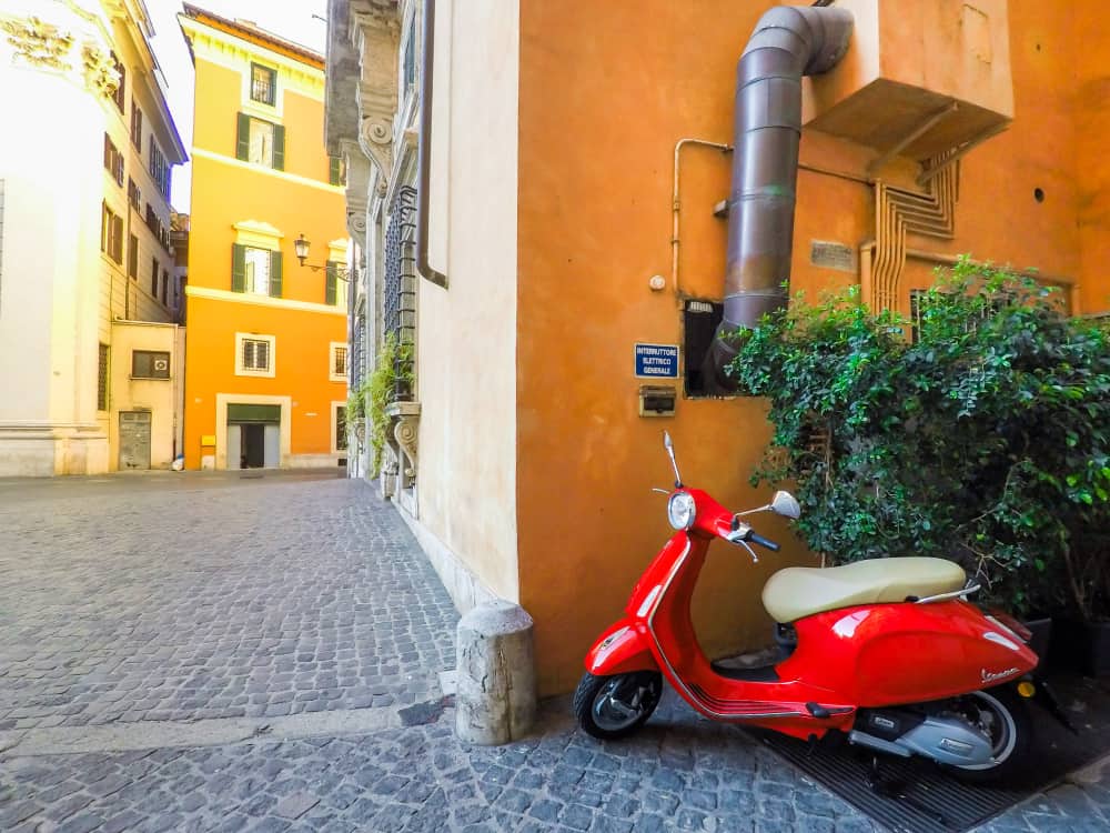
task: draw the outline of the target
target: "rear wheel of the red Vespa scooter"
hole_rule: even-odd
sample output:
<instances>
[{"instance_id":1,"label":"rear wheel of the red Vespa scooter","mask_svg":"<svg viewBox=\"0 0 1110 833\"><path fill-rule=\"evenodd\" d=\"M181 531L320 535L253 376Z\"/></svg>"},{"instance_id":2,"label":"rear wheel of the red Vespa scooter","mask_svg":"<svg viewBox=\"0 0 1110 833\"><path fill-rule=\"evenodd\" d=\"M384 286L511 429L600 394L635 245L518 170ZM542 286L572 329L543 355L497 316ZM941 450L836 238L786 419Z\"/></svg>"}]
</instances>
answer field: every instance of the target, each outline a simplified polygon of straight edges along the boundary
<instances>
[{"instance_id":1,"label":"rear wheel of the red Vespa scooter","mask_svg":"<svg viewBox=\"0 0 1110 833\"><path fill-rule=\"evenodd\" d=\"M1029 706L1011 688L977 691L958 699L960 711L987 731L995 743L996 762L978 766L947 767L960 781L972 784L1020 784L1032 763L1032 720ZM979 719L973 713L978 711Z\"/></svg>"}]
</instances>

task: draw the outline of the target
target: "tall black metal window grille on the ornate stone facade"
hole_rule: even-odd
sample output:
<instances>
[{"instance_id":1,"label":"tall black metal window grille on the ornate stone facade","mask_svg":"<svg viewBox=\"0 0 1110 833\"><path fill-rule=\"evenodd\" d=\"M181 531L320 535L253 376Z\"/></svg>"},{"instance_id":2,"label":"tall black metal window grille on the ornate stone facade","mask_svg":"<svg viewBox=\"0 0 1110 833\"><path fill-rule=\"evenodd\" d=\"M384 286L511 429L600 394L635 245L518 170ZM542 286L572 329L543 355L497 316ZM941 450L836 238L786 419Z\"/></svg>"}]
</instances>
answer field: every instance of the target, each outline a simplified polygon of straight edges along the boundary
<instances>
[{"instance_id":1,"label":"tall black metal window grille on the ornate stone facade","mask_svg":"<svg viewBox=\"0 0 1110 833\"><path fill-rule=\"evenodd\" d=\"M404 185L393 201L385 230L385 334L397 345L394 401L411 402L415 388L416 344L416 189Z\"/></svg>"}]
</instances>

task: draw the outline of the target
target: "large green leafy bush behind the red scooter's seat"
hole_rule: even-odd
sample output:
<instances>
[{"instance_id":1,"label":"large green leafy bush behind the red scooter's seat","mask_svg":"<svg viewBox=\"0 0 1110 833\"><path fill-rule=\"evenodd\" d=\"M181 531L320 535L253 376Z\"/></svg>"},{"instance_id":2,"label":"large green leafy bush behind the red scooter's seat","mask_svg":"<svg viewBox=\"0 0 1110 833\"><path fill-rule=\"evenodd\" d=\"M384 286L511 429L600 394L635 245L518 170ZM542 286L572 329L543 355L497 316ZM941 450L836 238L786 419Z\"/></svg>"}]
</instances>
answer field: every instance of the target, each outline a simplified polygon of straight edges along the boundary
<instances>
[{"instance_id":1,"label":"large green leafy bush behind the red scooter's seat","mask_svg":"<svg viewBox=\"0 0 1110 833\"><path fill-rule=\"evenodd\" d=\"M736 335L730 373L770 401L753 482L793 480L834 562L960 561L1018 611L1110 613L1110 334L1059 293L968 259L910 322L858 289Z\"/></svg>"}]
</instances>

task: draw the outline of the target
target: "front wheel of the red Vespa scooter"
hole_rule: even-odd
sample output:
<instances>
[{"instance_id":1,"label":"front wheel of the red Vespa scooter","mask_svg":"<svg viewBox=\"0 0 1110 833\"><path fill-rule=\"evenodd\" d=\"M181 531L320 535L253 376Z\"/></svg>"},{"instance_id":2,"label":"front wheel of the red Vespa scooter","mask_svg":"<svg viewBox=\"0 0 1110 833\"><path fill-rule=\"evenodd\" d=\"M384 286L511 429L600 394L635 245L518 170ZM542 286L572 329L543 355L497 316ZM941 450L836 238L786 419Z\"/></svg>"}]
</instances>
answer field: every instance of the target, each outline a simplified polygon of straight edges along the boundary
<instances>
[{"instance_id":1,"label":"front wheel of the red Vespa scooter","mask_svg":"<svg viewBox=\"0 0 1110 833\"><path fill-rule=\"evenodd\" d=\"M574 716L594 737L627 737L652 716L663 695L658 671L634 671L612 676L583 675L574 692Z\"/></svg>"}]
</instances>

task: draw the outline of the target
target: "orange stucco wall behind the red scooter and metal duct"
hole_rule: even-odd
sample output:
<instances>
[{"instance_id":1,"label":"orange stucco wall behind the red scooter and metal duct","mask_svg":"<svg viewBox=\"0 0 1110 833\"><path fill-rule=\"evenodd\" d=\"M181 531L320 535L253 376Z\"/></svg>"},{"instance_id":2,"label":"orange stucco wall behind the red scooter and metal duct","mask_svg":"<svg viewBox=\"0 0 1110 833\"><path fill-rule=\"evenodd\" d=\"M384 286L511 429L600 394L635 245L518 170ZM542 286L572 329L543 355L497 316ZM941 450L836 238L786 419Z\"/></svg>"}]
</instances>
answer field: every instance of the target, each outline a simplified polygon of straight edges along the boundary
<instances>
[{"instance_id":1,"label":"orange stucco wall behind the red scooter and metal duct","mask_svg":"<svg viewBox=\"0 0 1110 833\"><path fill-rule=\"evenodd\" d=\"M764 403L679 398L674 419L639 418L633 344L682 343L678 300L669 288L648 289L652 275L670 275L672 154L684 137L731 142L736 61L770 6L521 2L518 564L545 693L574 686L592 640L620 614L669 534L664 498L649 491L669 484L663 429L686 480L726 505L756 505L768 491L747 484L769 435ZM1098 269L1104 258L1087 257L1107 247L1106 212L1096 208L1100 189L1079 184L1077 22L1059 7L1010 3L1013 124L962 161L955 239L908 243L1073 279L1090 311L1110 288ZM1104 32L1100 26L1084 39ZM1106 84L1094 56L1104 50L1090 51L1094 101ZM1104 181L1097 149L1084 153L1081 165L1098 162ZM862 175L874 155L804 132L809 164ZM680 282L688 295L722 295L726 231L712 209L728 195L729 164L714 150L683 151ZM799 173L795 290L858 280L813 267L809 242L858 248L874 239L874 202L866 183ZM930 268L910 262L904 292L927 283ZM753 565L743 551L710 550L695 624L712 654L766 644L763 582L781 566L813 563L776 519L759 526L784 542L783 553Z\"/></svg>"}]
</instances>

